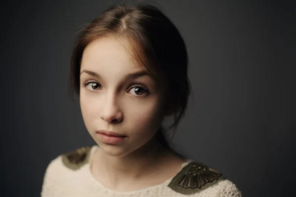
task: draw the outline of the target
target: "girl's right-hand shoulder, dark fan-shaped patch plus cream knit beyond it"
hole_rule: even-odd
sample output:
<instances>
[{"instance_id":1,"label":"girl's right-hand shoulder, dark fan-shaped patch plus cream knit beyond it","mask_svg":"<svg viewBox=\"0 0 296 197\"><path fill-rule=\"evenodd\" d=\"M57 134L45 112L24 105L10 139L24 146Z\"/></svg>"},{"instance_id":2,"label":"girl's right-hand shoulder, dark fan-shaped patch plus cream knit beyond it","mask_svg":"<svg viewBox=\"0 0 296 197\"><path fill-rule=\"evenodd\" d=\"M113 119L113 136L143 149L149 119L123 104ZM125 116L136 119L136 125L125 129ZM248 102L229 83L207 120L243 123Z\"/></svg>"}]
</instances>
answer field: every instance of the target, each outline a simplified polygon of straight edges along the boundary
<instances>
[{"instance_id":1,"label":"girl's right-hand shoulder, dark fan-shaped patch plus cream knit beyond it","mask_svg":"<svg viewBox=\"0 0 296 197\"><path fill-rule=\"evenodd\" d=\"M221 172L195 161L189 161L172 179L169 187L177 193L190 196L241 197L240 191Z\"/></svg>"}]
</instances>

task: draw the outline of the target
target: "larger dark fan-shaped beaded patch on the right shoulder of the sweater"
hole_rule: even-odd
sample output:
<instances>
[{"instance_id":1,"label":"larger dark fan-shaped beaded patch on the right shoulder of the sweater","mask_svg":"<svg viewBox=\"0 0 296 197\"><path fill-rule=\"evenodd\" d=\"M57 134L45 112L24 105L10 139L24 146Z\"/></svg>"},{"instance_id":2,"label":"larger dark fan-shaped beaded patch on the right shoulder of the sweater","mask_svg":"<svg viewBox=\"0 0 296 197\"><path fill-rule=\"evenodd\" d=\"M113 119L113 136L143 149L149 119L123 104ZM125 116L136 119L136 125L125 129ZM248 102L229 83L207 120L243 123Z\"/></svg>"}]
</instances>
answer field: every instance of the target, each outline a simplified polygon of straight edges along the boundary
<instances>
[{"instance_id":1,"label":"larger dark fan-shaped beaded patch on the right shoulder of the sweater","mask_svg":"<svg viewBox=\"0 0 296 197\"><path fill-rule=\"evenodd\" d=\"M222 179L222 174L200 162L188 163L168 185L181 194L194 194Z\"/></svg>"}]
</instances>

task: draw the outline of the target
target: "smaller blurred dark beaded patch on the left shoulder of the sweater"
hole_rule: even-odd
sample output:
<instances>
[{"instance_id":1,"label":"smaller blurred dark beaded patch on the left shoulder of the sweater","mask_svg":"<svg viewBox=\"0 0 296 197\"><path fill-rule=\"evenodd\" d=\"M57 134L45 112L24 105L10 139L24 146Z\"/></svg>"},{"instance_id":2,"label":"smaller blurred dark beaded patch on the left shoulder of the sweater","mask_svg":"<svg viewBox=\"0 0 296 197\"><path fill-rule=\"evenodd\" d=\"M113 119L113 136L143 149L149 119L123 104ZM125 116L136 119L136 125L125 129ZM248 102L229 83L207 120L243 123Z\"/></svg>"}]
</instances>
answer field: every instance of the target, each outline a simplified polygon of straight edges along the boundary
<instances>
[{"instance_id":1,"label":"smaller blurred dark beaded patch on the left shoulder of the sweater","mask_svg":"<svg viewBox=\"0 0 296 197\"><path fill-rule=\"evenodd\" d=\"M88 162L90 156L90 148L82 147L62 155L63 164L72 169L77 170Z\"/></svg>"}]
</instances>

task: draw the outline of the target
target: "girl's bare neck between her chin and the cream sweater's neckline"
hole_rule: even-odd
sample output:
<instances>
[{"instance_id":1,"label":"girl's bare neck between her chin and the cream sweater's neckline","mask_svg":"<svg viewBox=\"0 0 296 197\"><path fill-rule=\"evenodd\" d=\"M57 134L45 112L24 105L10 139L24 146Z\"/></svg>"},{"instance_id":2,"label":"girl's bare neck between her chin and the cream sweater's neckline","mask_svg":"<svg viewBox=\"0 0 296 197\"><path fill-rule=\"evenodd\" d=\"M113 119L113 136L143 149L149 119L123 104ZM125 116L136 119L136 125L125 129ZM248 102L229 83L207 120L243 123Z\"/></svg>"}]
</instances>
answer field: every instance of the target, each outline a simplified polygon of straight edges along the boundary
<instances>
[{"instance_id":1,"label":"girl's bare neck between her chin and the cream sweater's neckline","mask_svg":"<svg viewBox=\"0 0 296 197\"><path fill-rule=\"evenodd\" d=\"M151 140L123 157L111 157L99 151L97 159L94 159L93 172L103 177L106 185L119 189L123 187L122 183L134 184L155 175L155 169L160 168L170 157L172 153L167 148Z\"/></svg>"}]
</instances>

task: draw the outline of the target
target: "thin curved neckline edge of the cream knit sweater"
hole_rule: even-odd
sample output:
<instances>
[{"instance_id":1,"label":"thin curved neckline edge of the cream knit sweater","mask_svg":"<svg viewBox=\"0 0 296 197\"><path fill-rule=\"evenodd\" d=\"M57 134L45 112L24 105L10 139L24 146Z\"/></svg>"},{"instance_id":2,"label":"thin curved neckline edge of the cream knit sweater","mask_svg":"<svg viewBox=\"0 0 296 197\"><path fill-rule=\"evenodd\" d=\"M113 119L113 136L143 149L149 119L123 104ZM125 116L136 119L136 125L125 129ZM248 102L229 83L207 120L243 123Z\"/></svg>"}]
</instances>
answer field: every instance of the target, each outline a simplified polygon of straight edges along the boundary
<instances>
[{"instance_id":1,"label":"thin curved neckline edge of the cream knit sweater","mask_svg":"<svg viewBox=\"0 0 296 197\"><path fill-rule=\"evenodd\" d=\"M147 187L147 188L143 188L141 190L134 190L134 191L128 191L128 192L118 192L118 191L113 191L109 188L107 188L106 186L104 186L103 184L101 184L95 177L94 175L92 174L92 171L91 171L91 163L93 161L93 156L94 156L94 153L96 152L96 150L99 148L99 146L97 145L94 145L91 150L90 150L90 157L89 157L89 162L88 162L88 165L87 165L87 172L90 176L90 178L92 179L92 182L94 182L97 186L99 186L100 188L102 188L103 190L105 190L106 192L108 193L112 193L112 194L121 194L121 195L132 195L132 194L135 194L135 193L143 193L143 192L146 192L146 191L150 191L150 190L154 190L155 188L159 188L159 187L167 187L170 182L173 180L173 178L180 172L182 171L182 169L188 164L191 162L190 159L186 159L185 162L183 162L180 166L180 169L179 171L171 178L165 180L164 182L160 183L160 184L156 184L156 185L153 185L153 186L150 186L150 187Z\"/></svg>"}]
</instances>

